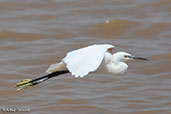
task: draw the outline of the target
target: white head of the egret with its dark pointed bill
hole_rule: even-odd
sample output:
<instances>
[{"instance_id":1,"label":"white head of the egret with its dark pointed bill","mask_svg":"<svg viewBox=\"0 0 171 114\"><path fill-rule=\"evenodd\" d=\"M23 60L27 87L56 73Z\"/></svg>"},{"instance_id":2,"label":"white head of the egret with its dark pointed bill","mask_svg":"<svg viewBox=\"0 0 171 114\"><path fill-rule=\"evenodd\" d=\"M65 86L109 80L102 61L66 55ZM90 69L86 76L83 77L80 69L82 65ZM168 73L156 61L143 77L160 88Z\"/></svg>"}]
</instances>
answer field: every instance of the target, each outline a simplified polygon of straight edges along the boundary
<instances>
[{"instance_id":1,"label":"white head of the egret with its dark pointed bill","mask_svg":"<svg viewBox=\"0 0 171 114\"><path fill-rule=\"evenodd\" d=\"M133 60L133 59L139 59L139 60L148 60L146 58L142 58L142 57L137 57L137 56L133 56L130 53L126 53L126 52L117 52L113 54L114 60L115 61L128 61L128 60Z\"/></svg>"}]
</instances>

